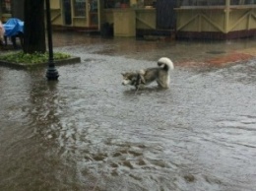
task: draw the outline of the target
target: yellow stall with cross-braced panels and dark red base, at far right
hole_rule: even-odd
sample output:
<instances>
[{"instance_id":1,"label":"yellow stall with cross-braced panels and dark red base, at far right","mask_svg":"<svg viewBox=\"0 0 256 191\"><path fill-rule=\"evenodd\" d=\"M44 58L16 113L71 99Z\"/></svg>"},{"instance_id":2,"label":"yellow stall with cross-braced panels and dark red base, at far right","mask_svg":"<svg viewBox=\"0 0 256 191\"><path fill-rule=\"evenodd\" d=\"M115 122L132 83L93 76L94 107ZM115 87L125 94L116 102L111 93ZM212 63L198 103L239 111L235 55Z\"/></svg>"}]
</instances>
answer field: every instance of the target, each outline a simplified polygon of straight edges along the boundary
<instances>
[{"instance_id":1,"label":"yellow stall with cross-braced panels and dark red base, at far right","mask_svg":"<svg viewBox=\"0 0 256 191\"><path fill-rule=\"evenodd\" d=\"M256 34L255 0L179 0L176 36L237 38Z\"/></svg>"}]
</instances>

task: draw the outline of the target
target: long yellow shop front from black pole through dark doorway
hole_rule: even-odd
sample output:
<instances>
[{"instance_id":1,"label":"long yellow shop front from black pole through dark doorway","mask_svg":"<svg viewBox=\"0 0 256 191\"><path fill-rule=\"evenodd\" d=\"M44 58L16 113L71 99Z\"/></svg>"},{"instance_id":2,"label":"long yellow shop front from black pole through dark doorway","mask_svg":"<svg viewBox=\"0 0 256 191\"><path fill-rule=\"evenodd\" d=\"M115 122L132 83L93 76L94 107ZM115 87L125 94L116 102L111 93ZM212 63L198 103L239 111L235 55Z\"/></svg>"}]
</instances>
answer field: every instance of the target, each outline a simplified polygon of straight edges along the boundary
<instances>
[{"instance_id":1,"label":"long yellow shop front from black pole through dark doorway","mask_svg":"<svg viewBox=\"0 0 256 191\"><path fill-rule=\"evenodd\" d=\"M175 28L174 0L51 0L52 25L100 32L113 28L114 36L138 32L170 32ZM159 11L158 11L159 10Z\"/></svg>"}]
</instances>

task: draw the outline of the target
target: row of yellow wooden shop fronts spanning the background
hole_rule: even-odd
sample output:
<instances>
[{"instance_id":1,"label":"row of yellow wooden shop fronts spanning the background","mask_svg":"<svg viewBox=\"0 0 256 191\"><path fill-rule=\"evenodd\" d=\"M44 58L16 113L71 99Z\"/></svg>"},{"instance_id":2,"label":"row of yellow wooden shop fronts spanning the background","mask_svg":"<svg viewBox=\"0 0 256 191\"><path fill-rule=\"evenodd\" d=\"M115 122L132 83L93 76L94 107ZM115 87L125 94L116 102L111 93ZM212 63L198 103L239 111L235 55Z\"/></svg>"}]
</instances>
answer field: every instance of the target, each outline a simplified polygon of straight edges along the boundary
<instances>
[{"instance_id":1,"label":"row of yellow wooden shop fronts spanning the background","mask_svg":"<svg viewBox=\"0 0 256 191\"><path fill-rule=\"evenodd\" d=\"M13 16L22 17L23 0L0 2L3 22ZM256 0L51 0L50 3L53 28L100 32L108 24L114 36L174 33L178 38L223 39L256 34Z\"/></svg>"}]
</instances>

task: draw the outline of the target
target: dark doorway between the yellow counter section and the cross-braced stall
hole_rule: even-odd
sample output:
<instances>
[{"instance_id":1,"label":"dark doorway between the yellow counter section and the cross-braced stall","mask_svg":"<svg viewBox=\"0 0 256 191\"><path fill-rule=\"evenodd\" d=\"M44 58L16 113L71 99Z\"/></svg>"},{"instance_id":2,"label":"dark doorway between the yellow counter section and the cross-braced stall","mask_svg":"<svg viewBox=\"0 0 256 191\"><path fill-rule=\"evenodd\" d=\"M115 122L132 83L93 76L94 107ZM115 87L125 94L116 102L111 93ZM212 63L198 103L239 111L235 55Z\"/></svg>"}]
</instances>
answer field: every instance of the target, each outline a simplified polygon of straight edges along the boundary
<instances>
[{"instance_id":1,"label":"dark doorway between the yellow counter section and the cross-braced stall","mask_svg":"<svg viewBox=\"0 0 256 191\"><path fill-rule=\"evenodd\" d=\"M157 28L161 30L174 30L176 25L176 15L174 8L176 0L158 0L157 8Z\"/></svg>"}]
</instances>

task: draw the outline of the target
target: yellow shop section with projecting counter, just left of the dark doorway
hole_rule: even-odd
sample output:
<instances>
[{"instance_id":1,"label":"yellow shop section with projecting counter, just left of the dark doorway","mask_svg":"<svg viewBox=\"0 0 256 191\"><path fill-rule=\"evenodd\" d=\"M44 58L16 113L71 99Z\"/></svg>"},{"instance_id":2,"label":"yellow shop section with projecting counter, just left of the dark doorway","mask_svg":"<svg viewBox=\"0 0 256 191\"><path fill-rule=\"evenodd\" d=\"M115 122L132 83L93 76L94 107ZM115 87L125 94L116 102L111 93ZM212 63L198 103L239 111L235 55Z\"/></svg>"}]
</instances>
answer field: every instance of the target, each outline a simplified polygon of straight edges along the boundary
<instances>
[{"instance_id":1,"label":"yellow shop section with projecting counter, just left of the dark doorway","mask_svg":"<svg viewBox=\"0 0 256 191\"><path fill-rule=\"evenodd\" d=\"M113 25L114 36L135 36L138 29L156 30L156 1L105 0L102 18Z\"/></svg>"}]
</instances>

